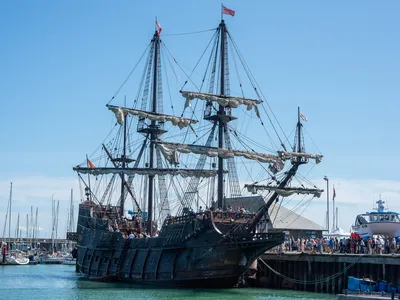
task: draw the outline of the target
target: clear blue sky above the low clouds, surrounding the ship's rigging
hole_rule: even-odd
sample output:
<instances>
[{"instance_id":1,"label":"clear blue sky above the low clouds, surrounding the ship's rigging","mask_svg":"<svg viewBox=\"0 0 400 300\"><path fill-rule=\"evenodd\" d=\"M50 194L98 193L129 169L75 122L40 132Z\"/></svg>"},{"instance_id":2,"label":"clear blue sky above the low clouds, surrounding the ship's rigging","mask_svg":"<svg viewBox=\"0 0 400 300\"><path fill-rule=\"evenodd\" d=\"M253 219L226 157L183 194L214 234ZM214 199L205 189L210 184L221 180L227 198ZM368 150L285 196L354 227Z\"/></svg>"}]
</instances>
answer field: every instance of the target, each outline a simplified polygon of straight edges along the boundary
<instances>
[{"instance_id":1,"label":"clear blue sky above the low clouds, surrounding the ship's rigging","mask_svg":"<svg viewBox=\"0 0 400 300\"><path fill-rule=\"evenodd\" d=\"M226 22L281 124L292 129L298 105L307 115L325 156L313 176L399 180L400 2L225 5L236 10ZM72 166L108 132L104 105L149 43L155 17L190 70L210 34L168 34L217 27L220 2L1 3L2 181L75 176Z\"/></svg>"}]
</instances>

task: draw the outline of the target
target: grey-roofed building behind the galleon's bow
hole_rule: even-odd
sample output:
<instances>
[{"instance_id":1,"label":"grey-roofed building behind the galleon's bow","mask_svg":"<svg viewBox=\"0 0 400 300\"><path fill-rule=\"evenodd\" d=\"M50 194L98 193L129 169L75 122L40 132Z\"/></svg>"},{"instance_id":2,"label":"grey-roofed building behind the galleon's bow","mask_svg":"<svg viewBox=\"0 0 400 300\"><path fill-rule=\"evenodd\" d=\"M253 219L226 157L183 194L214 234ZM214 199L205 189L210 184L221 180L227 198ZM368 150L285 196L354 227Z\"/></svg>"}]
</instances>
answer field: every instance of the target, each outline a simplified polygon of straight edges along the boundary
<instances>
[{"instance_id":1,"label":"grey-roofed building behind the galleon's bow","mask_svg":"<svg viewBox=\"0 0 400 300\"><path fill-rule=\"evenodd\" d=\"M226 198L225 201L226 205L231 206L233 210L244 207L252 213L256 213L265 204L262 196ZM271 222L267 222L266 218L263 218L257 226L258 232L284 231L294 238L320 238L322 231L325 231L324 227L281 206L280 202L271 205L267 219Z\"/></svg>"}]
</instances>

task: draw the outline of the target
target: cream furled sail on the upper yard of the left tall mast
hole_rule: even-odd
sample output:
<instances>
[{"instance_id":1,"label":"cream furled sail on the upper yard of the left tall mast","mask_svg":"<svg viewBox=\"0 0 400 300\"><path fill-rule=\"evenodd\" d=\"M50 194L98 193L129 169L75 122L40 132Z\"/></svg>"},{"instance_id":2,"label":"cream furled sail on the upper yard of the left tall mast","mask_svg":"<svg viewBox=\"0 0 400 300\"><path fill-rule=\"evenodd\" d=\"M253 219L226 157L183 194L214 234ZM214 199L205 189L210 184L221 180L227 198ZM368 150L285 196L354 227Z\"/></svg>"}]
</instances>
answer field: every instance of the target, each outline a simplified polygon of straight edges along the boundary
<instances>
[{"instance_id":1,"label":"cream furled sail on the upper yard of the left tall mast","mask_svg":"<svg viewBox=\"0 0 400 300\"><path fill-rule=\"evenodd\" d=\"M168 122L169 121L172 123L172 125L178 126L180 129L198 122L197 120L176 117L176 116L171 116L171 115L165 115L165 114L150 113L150 112L146 112L143 110L126 108L126 107L121 107L121 106L107 105L107 107L109 110L111 110L115 114L115 117L117 118L117 122L120 125L124 124L125 114L127 114L127 113L132 116L138 116L139 118L146 118L151 121L159 121L159 122Z\"/></svg>"}]
</instances>

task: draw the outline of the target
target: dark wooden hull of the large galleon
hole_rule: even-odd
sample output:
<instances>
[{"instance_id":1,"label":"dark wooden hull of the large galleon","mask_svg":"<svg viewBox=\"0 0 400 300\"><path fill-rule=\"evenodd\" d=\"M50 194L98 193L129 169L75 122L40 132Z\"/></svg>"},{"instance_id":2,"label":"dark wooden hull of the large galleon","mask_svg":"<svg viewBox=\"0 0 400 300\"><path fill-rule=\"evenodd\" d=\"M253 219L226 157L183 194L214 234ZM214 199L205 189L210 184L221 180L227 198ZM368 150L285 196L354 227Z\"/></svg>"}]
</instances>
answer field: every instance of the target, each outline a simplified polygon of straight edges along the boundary
<instances>
[{"instance_id":1,"label":"dark wooden hull of the large galleon","mask_svg":"<svg viewBox=\"0 0 400 300\"><path fill-rule=\"evenodd\" d=\"M86 229L78 243L77 271L89 279L186 287L232 287L280 234L251 241L221 240L208 230L181 245L165 237L124 239L119 232Z\"/></svg>"}]
</instances>

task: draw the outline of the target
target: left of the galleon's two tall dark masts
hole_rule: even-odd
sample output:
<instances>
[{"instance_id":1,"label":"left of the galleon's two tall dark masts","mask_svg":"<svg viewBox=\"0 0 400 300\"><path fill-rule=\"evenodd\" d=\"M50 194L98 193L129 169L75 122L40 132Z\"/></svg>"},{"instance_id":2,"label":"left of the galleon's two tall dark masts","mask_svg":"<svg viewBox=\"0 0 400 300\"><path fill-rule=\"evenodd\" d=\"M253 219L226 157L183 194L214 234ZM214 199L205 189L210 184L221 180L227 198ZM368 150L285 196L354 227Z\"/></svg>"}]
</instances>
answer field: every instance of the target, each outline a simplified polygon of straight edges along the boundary
<instances>
[{"instance_id":1,"label":"left of the galleon's two tall dark masts","mask_svg":"<svg viewBox=\"0 0 400 300\"><path fill-rule=\"evenodd\" d=\"M154 65L153 65L153 95L152 95L152 112L157 113L157 73L158 73L158 51L159 51L159 43L160 43L160 36L158 31L154 33L153 37L154 43ZM155 140L157 138L156 134L156 121L152 120L150 124L150 149L149 149L149 167L150 169L154 168L154 147L155 147ZM152 226L153 226L153 192L154 192L154 175L149 175L149 189L148 189L148 202L147 202L147 233L152 235Z\"/></svg>"}]
</instances>

